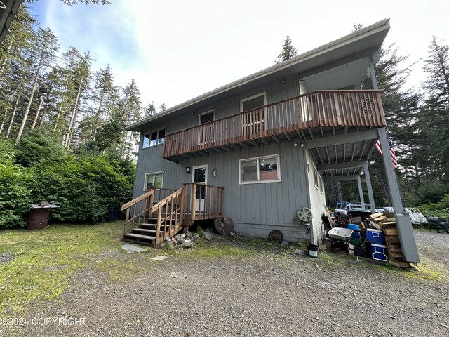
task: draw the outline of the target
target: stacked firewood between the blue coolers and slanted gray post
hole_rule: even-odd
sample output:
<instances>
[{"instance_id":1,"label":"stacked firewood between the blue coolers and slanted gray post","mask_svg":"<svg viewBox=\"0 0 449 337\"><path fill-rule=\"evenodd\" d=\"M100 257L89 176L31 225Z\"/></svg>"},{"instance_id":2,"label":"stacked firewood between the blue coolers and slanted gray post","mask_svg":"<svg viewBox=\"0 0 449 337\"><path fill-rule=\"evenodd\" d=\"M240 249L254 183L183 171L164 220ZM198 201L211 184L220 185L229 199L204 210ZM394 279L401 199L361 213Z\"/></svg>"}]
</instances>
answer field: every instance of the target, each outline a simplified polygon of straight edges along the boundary
<instances>
[{"instance_id":1,"label":"stacked firewood between the blue coolers and slanted gray post","mask_svg":"<svg viewBox=\"0 0 449 337\"><path fill-rule=\"evenodd\" d=\"M398 228L395 218L387 218L383 213L374 213L370 216L370 225L384 232L385 244L387 245L387 256L389 263L396 267L410 267L410 262L404 260L399 240Z\"/></svg>"}]
</instances>

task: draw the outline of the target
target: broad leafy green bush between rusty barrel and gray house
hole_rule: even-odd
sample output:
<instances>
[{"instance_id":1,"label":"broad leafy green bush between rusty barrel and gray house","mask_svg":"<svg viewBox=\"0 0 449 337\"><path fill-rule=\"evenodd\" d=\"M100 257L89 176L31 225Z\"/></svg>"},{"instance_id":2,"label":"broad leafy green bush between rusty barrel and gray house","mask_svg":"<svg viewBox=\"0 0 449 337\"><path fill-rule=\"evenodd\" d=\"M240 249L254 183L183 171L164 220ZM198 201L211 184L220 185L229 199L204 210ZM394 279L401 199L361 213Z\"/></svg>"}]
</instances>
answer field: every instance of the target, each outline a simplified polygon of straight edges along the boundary
<instances>
[{"instance_id":1,"label":"broad leafy green bush between rusty barrel and gray house","mask_svg":"<svg viewBox=\"0 0 449 337\"><path fill-rule=\"evenodd\" d=\"M60 206L51 217L64 222L100 222L132 195L130 178L105 157L67 156L37 165L35 175L34 197Z\"/></svg>"}]
</instances>

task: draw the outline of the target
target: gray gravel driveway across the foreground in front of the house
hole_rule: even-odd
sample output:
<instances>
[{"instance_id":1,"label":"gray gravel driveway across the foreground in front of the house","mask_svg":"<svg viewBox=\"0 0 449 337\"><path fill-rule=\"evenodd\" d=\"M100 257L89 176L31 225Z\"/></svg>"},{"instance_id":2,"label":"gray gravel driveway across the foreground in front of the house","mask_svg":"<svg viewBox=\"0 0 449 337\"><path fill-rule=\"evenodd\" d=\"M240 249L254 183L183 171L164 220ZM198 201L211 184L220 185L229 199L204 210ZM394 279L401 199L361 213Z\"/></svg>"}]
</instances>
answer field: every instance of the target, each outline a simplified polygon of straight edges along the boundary
<instances>
[{"instance_id":1,"label":"gray gravel driveway across the foreground in front of the house","mask_svg":"<svg viewBox=\"0 0 449 337\"><path fill-rule=\"evenodd\" d=\"M29 324L6 336L449 336L449 234L416 231L416 238L440 280L285 251L146 258L145 275L121 282L83 270L59 303L35 303L27 314L84 324Z\"/></svg>"}]
</instances>

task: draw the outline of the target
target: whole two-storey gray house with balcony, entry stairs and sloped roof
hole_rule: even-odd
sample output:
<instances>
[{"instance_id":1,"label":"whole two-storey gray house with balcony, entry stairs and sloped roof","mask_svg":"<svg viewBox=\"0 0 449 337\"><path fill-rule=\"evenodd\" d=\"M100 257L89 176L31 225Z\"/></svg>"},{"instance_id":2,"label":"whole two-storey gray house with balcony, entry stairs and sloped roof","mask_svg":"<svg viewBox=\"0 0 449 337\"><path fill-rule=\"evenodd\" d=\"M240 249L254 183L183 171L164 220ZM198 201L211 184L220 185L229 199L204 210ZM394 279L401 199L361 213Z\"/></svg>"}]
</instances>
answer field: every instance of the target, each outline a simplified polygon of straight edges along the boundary
<instances>
[{"instance_id":1,"label":"whole two-storey gray house with balcony, entry stairs and sloped roof","mask_svg":"<svg viewBox=\"0 0 449 337\"><path fill-rule=\"evenodd\" d=\"M280 230L289 242L319 242L323 181L355 179L361 190L365 172L370 191L377 139L389 154L380 91L361 90L367 74L377 89L373 64L389 27L382 20L127 126L141 137L125 239L159 244L195 220L228 216L243 236ZM406 218L396 214L404 256L417 262Z\"/></svg>"}]
</instances>

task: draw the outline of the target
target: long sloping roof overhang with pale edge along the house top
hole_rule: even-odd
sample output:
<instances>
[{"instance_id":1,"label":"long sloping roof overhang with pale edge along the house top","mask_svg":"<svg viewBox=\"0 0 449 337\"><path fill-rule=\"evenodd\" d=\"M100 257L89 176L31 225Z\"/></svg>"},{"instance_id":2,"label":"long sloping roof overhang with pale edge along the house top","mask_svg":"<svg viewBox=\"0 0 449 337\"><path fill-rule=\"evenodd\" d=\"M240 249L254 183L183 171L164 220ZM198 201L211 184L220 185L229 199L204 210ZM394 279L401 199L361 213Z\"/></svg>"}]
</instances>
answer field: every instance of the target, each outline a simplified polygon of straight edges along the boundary
<instances>
[{"instance_id":1,"label":"long sloping roof overhang with pale edge along the house top","mask_svg":"<svg viewBox=\"0 0 449 337\"><path fill-rule=\"evenodd\" d=\"M340 39L324 44L311 51L290 58L284 62L268 67L213 91L199 95L185 103L170 107L169 109L142 119L134 124L126 126L125 131L142 131L146 125L156 119L187 110L194 110L214 101L224 100L241 91L248 90L254 86L262 86L272 81L298 74L300 77L308 77L324 70L338 67L347 62L361 58L372 57L378 60L380 48L389 31L389 19L382 20L368 27L358 29Z\"/></svg>"}]
</instances>

